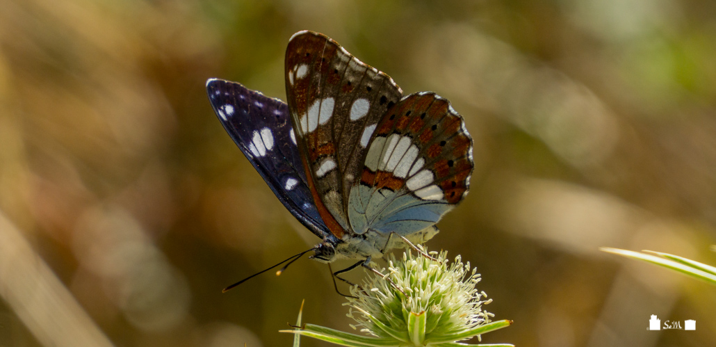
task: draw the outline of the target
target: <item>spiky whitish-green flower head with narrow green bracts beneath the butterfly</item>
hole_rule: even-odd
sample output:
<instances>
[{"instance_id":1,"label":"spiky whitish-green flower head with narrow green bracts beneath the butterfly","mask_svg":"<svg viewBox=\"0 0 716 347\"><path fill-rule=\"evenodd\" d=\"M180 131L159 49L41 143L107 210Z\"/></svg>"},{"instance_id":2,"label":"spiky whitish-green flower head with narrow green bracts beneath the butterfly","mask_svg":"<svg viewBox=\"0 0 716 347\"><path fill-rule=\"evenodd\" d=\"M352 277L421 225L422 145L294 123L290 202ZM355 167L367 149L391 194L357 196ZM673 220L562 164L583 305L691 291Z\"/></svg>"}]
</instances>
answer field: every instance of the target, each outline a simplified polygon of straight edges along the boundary
<instances>
[{"instance_id":1,"label":"spiky whitish-green flower head with narrow green bracts beneath the butterfly","mask_svg":"<svg viewBox=\"0 0 716 347\"><path fill-rule=\"evenodd\" d=\"M420 246L418 246L420 247ZM348 316L370 336L357 336L318 325L298 331L342 346L458 346L457 341L511 325L510 320L490 322L483 310L490 299L475 287L480 274L463 264L460 256L448 264L448 252L403 253L388 258L387 274L368 272L362 286L351 288ZM385 270L383 271L385 272ZM459 346L480 346L460 343ZM508 344L490 346L512 346Z\"/></svg>"}]
</instances>

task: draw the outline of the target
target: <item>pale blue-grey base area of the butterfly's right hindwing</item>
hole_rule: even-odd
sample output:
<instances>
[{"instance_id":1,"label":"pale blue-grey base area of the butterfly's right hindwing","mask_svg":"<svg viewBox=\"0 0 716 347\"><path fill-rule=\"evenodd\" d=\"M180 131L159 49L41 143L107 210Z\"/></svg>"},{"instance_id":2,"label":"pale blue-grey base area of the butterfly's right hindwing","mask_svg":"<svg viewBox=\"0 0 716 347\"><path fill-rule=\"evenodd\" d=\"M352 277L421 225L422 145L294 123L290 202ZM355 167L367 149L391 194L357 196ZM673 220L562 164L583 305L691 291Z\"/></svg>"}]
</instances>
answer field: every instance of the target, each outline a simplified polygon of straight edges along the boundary
<instances>
[{"instance_id":1,"label":"pale blue-grey base area of the butterfly's right hindwing","mask_svg":"<svg viewBox=\"0 0 716 347\"><path fill-rule=\"evenodd\" d=\"M405 192L380 189L358 184L348 199L348 219L357 234L375 230L384 234L395 232L408 237L431 227L452 204L440 200L422 200Z\"/></svg>"}]
</instances>

